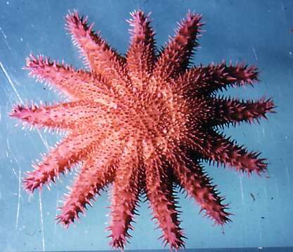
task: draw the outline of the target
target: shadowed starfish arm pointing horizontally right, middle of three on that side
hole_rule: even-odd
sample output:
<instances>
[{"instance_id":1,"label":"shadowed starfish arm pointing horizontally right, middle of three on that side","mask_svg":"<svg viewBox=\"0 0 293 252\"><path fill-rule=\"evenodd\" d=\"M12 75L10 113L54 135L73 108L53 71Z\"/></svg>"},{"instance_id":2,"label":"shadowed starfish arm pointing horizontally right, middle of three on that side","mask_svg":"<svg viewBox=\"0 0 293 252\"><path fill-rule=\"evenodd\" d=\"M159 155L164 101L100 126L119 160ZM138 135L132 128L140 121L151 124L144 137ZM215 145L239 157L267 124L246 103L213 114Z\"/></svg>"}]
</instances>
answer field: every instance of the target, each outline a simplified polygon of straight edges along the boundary
<instances>
[{"instance_id":1,"label":"shadowed starfish arm pointing horizontally right, middle of three on that side","mask_svg":"<svg viewBox=\"0 0 293 252\"><path fill-rule=\"evenodd\" d=\"M266 113L273 113L275 105L272 99L261 98L259 101L240 102L239 99L211 99L207 102L211 108L204 118L207 125L229 125L230 123L252 123L266 118Z\"/></svg>"}]
</instances>

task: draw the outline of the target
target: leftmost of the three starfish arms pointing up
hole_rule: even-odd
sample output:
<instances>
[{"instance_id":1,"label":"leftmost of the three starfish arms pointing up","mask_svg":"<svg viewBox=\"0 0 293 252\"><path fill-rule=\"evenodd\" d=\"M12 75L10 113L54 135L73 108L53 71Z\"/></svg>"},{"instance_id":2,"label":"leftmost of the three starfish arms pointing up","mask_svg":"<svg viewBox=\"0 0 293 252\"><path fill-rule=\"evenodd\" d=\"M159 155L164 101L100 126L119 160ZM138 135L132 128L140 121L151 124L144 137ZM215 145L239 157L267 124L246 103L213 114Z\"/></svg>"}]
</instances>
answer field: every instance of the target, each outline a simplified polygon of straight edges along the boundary
<instances>
[{"instance_id":1,"label":"leftmost of the three starfish arms pointing up","mask_svg":"<svg viewBox=\"0 0 293 252\"><path fill-rule=\"evenodd\" d=\"M93 24L89 26L87 18L80 18L77 11L69 13L65 20L73 43L81 50L91 70L110 80L123 78L125 58L93 31Z\"/></svg>"}]
</instances>

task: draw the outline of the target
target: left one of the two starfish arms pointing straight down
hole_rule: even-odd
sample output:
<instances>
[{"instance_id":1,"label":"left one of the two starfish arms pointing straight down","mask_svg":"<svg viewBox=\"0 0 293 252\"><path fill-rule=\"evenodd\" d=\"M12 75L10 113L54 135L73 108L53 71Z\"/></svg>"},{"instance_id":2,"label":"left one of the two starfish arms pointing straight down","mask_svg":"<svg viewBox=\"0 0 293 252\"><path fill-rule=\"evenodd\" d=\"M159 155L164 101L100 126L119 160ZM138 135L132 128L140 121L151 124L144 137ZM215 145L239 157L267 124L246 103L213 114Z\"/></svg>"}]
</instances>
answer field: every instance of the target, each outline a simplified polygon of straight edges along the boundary
<instances>
[{"instance_id":1,"label":"left one of the two starfish arms pointing straight down","mask_svg":"<svg viewBox=\"0 0 293 252\"><path fill-rule=\"evenodd\" d=\"M112 221L108 230L112 238L110 246L124 248L126 239L131 237L129 229L133 229L135 210L140 193L138 153L134 141L128 144L122 154L117 168L112 194Z\"/></svg>"}]
</instances>

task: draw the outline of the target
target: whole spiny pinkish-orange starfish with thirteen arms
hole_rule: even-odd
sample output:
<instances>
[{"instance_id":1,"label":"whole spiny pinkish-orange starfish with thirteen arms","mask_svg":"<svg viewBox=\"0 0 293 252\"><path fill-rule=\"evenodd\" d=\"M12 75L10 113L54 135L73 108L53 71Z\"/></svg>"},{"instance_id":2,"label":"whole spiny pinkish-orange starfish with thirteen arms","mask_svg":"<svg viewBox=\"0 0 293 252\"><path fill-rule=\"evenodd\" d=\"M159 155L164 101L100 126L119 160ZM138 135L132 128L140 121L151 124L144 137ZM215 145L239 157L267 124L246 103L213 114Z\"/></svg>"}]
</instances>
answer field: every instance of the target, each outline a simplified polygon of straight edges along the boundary
<instances>
[{"instance_id":1,"label":"whole spiny pinkish-orange starfish with thirteen arms","mask_svg":"<svg viewBox=\"0 0 293 252\"><path fill-rule=\"evenodd\" d=\"M11 112L25 124L68 132L33 165L24 185L33 192L81 163L60 207L60 223L68 227L112 184L110 245L126 245L145 194L165 244L177 249L184 246L185 236L178 219L176 186L216 224L230 221L227 204L201 162L216 162L247 174L265 172L266 162L258 158L259 153L237 146L219 128L259 121L275 106L271 99L245 102L216 96L227 87L256 82L254 66L225 62L190 66L201 15L188 13L161 52L148 15L138 10L131 17L125 57L93 31L87 18L74 12L66 16L66 28L89 71L41 55L27 58L30 75L56 87L70 102L16 105Z\"/></svg>"}]
</instances>

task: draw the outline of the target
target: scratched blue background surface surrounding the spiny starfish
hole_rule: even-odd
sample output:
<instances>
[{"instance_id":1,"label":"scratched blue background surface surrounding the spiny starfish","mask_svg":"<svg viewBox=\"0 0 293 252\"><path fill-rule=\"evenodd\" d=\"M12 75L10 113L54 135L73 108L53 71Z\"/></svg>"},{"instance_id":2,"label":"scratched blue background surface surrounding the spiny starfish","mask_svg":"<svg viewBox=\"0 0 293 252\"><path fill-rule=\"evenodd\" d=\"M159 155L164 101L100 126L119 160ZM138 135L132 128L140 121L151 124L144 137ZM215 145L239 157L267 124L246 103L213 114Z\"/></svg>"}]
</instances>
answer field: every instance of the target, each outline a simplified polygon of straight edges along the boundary
<instances>
[{"instance_id":1,"label":"scratched blue background surface surrounding the spiny starfish","mask_svg":"<svg viewBox=\"0 0 293 252\"><path fill-rule=\"evenodd\" d=\"M189 239L187 248L293 246L293 1L0 1L0 251L53 251L108 249L109 216L107 193L82 216L77 225L65 230L56 225L65 186L72 176L62 176L51 190L27 195L20 179L32 160L40 159L59 136L14 127L8 118L13 104L60 98L22 70L30 52L52 59L65 59L82 67L79 53L64 29L64 16L77 9L89 15L95 29L119 52L129 44L129 12L141 8L152 12L157 44L164 45L174 34L176 22L190 9L203 14L206 22L195 64L222 59L256 64L261 83L255 87L228 90L225 94L244 99L273 97L278 108L261 124L226 129L249 150L268 158L268 174L242 176L236 172L205 165L230 203L233 222L214 227L198 214L192 200L180 196L182 227ZM255 197L253 200L252 195ZM133 238L127 248L162 248L160 231L150 221L148 204L141 204Z\"/></svg>"}]
</instances>

